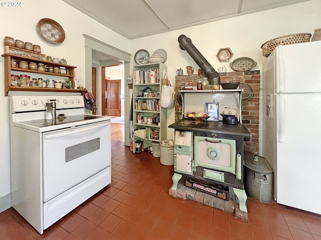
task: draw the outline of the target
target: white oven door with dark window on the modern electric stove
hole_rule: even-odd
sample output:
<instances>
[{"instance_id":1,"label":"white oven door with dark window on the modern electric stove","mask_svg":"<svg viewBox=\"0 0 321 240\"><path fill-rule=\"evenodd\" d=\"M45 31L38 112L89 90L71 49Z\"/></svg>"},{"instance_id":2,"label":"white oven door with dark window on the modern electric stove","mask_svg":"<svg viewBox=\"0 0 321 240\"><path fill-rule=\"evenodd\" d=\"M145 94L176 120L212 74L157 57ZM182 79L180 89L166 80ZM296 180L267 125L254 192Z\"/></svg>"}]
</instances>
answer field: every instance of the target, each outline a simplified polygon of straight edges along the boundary
<instances>
[{"instance_id":1,"label":"white oven door with dark window on the modern electric stove","mask_svg":"<svg viewBox=\"0 0 321 240\"><path fill-rule=\"evenodd\" d=\"M45 132L42 138L44 202L111 164L109 120Z\"/></svg>"}]
</instances>

